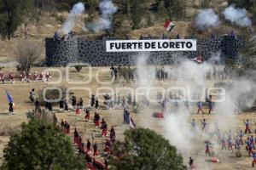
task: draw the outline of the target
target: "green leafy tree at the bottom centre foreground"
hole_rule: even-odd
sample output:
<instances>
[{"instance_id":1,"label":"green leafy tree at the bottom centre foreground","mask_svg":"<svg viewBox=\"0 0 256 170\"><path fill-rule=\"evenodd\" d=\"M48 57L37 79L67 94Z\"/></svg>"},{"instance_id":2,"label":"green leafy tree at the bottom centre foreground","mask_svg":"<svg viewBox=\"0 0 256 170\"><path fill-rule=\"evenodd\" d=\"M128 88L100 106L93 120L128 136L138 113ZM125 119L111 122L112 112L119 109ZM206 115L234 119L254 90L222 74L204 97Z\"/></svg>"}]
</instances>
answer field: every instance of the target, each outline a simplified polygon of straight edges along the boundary
<instances>
[{"instance_id":1,"label":"green leafy tree at the bottom centre foreground","mask_svg":"<svg viewBox=\"0 0 256 170\"><path fill-rule=\"evenodd\" d=\"M113 169L186 169L175 146L148 128L125 131L125 142L114 144L113 155L110 159Z\"/></svg>"}]
</instances>

